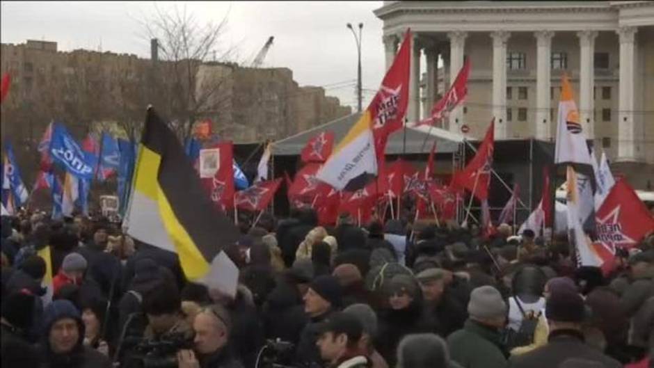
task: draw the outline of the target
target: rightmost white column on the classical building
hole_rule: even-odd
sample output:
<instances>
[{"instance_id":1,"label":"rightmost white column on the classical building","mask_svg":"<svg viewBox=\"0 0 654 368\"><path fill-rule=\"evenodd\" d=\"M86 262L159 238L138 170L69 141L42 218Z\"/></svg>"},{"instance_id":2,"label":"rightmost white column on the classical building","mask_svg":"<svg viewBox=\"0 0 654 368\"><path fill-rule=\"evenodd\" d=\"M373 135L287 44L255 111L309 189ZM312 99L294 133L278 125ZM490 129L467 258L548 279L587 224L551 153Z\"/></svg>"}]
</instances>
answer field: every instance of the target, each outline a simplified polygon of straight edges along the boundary
<instances>
[{"instance_id":1,"label":"rightmost white column on the classical building","mask_svg":"<svg viewBox=\"0 0 654 368\"><path fill-rule=\"evenodd\" d=\"M637 161L634 142L634 38L635 27L622 27L620 36L620 86L618 106L618 157L616 161Z\"/></svg>"}]
</instances>

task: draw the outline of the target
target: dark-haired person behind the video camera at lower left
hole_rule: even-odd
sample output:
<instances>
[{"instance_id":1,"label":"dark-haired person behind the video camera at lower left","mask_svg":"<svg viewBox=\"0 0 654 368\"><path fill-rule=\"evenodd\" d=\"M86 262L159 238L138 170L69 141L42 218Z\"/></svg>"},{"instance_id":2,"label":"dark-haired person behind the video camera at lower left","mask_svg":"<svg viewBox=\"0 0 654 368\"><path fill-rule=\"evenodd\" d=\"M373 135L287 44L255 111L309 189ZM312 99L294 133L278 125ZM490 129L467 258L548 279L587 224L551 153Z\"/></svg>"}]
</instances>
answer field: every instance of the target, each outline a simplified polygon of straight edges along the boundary
<instances>
[{"instance_id":1,"label":"dark-haired person behind the video camera at lower left","mask_svg":"<svg viewBox=\"0 0 654 368\"><path fill-rule=\"evenodd\" d=\"M193 339L193 328L182 314L182 298L175 285L163 283L143 297L147 316L146 339Z\"/></svg>"}]
</instances>

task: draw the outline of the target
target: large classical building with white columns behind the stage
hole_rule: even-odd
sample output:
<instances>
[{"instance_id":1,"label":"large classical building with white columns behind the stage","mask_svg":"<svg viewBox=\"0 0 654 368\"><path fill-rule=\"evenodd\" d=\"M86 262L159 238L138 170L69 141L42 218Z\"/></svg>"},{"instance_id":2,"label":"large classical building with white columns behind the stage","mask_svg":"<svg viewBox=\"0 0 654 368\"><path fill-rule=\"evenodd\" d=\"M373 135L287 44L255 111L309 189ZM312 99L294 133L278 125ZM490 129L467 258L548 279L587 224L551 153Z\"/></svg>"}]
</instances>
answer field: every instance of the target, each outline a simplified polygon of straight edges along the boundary
<instances>
[{"instance_id":1,"label":"large classical building with white columns behind the stage","mask_svg":"<svg viewBox=\"0 0 654 368\"><path fill-rule=\"evenodd\" d=\"M495 117L497 140L553 141L566 73L596 149L654 177L654 1L384 1L374 13L387 68L413 31L409 121L429 115L465 57L468 98L445 129L480 138Z\"/></svg>"}]
</instances>

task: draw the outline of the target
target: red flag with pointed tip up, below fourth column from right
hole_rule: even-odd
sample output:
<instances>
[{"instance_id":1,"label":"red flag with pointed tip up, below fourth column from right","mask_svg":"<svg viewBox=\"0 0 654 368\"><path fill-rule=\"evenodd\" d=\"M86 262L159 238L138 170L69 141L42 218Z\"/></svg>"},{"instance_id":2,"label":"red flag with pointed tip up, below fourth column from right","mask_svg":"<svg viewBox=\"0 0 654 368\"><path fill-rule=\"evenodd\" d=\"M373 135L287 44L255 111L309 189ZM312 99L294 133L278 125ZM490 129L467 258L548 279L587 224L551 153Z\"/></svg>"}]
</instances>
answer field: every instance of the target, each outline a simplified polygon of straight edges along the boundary
<instances>
[{"instance_id":1,"label":"red flag with pointed tip up, below fourth column from right","mask_svg":"<svg viewBox=\"0 0 654 368\"><path fill-rule=\"evenodd\" d=\"M479 200L488 199L490 170L493 165L493 129L495 119L490 122L484 141L468 166L454 174L451 186L468 189Z\"/></svg>"}]
</instances>

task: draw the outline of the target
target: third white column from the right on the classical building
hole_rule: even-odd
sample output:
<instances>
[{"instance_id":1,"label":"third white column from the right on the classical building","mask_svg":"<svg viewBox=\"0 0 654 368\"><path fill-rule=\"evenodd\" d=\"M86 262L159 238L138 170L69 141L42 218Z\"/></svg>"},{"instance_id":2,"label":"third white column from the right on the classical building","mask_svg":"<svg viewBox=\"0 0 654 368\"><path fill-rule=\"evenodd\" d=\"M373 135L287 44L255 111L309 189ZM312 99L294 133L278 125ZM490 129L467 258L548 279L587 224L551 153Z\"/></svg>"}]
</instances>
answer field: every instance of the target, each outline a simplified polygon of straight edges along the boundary
<instances>
[{"instance_id":1,"label":"third white column from the right on the classical building","mask_svg":"<svg viewBox=\"0 0 654 368\"><path fill-rule=\"evenodd\" d=\"M536 125L534 134L541 141L550 140L550 58L552 54L552 31L538 31L536 36Z\"/></svg>"}]
</instances>

